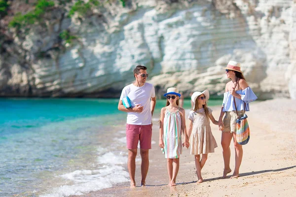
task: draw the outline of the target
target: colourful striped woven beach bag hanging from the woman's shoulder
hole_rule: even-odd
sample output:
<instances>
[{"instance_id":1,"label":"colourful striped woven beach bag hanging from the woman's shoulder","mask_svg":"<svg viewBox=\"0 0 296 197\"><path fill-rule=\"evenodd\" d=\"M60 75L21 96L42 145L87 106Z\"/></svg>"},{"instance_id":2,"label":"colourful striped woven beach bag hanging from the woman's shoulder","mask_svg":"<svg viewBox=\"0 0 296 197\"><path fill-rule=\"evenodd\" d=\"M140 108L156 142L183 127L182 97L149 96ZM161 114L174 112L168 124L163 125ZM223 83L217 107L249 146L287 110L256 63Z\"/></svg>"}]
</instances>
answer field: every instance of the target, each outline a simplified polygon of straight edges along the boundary
<instances>
[{"instance_id":1,"label":"colourful striped woven beach bag hanging from the woman's shoulder","mask_svg":"<svg viewBox=\"0 0 296 197\"><path fill-rule=\"evenodd\" d=\"M234 104L235 104L236 114L238 115L235 99L234 99ZM246 112L246 103L244 105L244 116L236 120L236 141L240 145L245 145L250 140L250 127L247 121L248 116L245 112Z\"/></svg>"}]
</instances>

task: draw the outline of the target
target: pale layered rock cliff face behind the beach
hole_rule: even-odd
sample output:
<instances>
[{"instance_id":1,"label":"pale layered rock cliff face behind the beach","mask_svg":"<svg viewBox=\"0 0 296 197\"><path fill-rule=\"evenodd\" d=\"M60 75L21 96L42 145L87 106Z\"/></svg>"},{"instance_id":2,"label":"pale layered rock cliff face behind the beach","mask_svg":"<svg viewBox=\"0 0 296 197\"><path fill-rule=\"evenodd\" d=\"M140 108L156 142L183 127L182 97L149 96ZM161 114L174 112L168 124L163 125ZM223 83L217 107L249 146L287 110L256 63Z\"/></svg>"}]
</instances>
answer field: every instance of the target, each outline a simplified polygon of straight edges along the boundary
<instances>
[{"instance_id":1,"label":"pale layered rock cliff face behind the beach","mask_svg":"<svg viewBox=\"0 0 296 197\"><path fill-rule=\"evenodd\" d=\"M13 34L1 96L118 97L139 64L159 95L174 86L221 96L222 67L235 60L259 99L296 99L295 0L130 0L94 13L70 19L55 7L46 30ZM64 30L77 37L65 47Z\"/></svg>"}]
</instances>

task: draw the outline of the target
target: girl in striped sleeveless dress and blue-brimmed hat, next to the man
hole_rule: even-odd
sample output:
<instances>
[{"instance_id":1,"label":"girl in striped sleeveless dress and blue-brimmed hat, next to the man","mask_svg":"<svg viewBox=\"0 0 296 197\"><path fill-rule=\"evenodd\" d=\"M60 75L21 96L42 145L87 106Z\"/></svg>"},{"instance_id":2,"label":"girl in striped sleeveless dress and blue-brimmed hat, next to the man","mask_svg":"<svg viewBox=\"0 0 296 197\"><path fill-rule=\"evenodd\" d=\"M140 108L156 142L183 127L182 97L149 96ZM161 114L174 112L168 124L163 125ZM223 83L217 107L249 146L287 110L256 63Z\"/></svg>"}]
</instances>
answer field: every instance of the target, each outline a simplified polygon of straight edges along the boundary
<instances>
[{"instance_id":1,"label":"girl in striped sleeveless dress and blue-brimmed hat, next to the man","mask_svg":"<svg viewBox=\"0 0 296 197\"><path fill-rule=\"evenodd\" d=\"M186 133L185 110L179 107L181 95L177 88L169 88L164 94L166 106L160 112L159 147L167 159L169 186L176 186L179 158L182 154L182 133ZM189 147L187 135L183 146Z\"/></svg>"}]
</instances>

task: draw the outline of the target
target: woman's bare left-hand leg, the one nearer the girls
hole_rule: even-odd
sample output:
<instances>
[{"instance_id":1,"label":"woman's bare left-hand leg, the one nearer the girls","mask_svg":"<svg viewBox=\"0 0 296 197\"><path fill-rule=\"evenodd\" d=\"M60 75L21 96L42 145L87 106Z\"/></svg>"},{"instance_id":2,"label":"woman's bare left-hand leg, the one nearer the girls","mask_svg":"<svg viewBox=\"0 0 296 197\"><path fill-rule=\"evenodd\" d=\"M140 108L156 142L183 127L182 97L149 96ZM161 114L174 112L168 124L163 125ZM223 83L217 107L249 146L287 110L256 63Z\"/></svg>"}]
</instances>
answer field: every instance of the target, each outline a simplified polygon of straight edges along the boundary
<instances>
[{"instance_id":1,"label":"woman's bare left-hand leg, the one nearer the girls","mask_svg":"<svg viewBox=\"0 0 296 197\"><path fill-rule=\"evenodd\" d=\"M230 169L230 142L233 134L231 132L222 132L221 145L223 149L223 160L224 160L224 171L222 178L225 178L228 173L231 172Z\"/></svg>"}]
</instances>

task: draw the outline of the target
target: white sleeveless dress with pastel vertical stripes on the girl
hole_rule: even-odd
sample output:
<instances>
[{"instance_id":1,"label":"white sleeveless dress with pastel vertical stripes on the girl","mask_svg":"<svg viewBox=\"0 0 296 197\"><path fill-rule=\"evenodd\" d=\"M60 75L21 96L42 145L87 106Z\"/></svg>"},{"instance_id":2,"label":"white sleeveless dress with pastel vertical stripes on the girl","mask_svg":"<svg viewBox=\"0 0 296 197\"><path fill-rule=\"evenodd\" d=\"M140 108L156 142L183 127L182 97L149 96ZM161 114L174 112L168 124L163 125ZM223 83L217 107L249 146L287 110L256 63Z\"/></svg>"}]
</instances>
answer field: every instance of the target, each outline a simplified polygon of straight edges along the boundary
<instances>
[{"instance_id":1,"label":"white sleeveless dress with pastel vertical stripes on the girl","mask_svg":"<svg viewBox=\"0 0 296 197\"><path fill-rule=\"evenodd\" d=\"M177 159L182 154L181 123L179 109L176 112L170 112L166 107L163 121L164 148L162 152L167 159Z\"/></svg>"}]
</instances>

